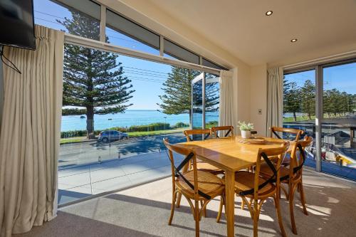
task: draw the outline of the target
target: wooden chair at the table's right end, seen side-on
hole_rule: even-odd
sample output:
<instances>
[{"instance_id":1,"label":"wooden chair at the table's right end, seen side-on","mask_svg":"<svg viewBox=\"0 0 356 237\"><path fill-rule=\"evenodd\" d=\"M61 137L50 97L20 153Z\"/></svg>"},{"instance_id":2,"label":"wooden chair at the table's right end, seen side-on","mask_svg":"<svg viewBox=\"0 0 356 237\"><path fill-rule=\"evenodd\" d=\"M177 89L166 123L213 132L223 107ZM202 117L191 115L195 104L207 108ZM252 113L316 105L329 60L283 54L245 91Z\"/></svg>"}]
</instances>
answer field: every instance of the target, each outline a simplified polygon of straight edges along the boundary
<instances>
[{"instance_id":1,"label":"wooden chair at the table's right end, seen side-on","mask_svg":"<svg viewBox=\"0 0 356 237\"><path fill-rule=\"evenodd\" d=\"M298 190L300 193L300 202L303 206L303 213L308 216L308 211L305 206L305 194L303 190L303 164L305 162L305 147L309 147L312 144L313 138L305 136L304 140L295 142L290 154L289 167L281 167L281 183L288 185L288 191L281 186L281 189L286 194L286 199L289 202L290 211L290 224L292 226L293 233L297 234L297 228L295 226L294 219L294 193ZM266 164L261 165L261 176L265 179L269 179L273 173L268 169Z\"/></svg>"}]
</instances>

